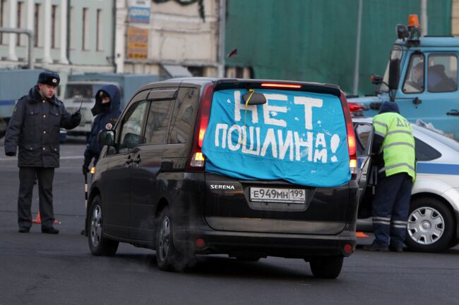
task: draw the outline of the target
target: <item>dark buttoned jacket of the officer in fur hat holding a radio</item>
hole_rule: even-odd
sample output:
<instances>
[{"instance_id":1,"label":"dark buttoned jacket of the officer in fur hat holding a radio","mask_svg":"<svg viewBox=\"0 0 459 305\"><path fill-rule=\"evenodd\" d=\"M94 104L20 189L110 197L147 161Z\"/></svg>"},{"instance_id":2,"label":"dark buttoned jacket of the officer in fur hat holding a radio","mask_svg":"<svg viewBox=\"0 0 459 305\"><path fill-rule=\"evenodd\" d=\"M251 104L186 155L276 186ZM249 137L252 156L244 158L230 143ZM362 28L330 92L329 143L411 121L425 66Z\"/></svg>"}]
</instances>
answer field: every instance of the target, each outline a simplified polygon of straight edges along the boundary
<instances>
[{"instance_id":1,"label":"dark buttoned jacket of the officer in fur hat holding a radio","mask_svg":"<svg viewBox=\"0 0 459 305\"><path fill-rule=\"evenodd\" d=\"M59 167L59 128L72 129L80 123L66 111L56 96L45 99L38 85L18 99L5 136L5 153L16 155L18 166Z\"/></svg>"}]
</instances>

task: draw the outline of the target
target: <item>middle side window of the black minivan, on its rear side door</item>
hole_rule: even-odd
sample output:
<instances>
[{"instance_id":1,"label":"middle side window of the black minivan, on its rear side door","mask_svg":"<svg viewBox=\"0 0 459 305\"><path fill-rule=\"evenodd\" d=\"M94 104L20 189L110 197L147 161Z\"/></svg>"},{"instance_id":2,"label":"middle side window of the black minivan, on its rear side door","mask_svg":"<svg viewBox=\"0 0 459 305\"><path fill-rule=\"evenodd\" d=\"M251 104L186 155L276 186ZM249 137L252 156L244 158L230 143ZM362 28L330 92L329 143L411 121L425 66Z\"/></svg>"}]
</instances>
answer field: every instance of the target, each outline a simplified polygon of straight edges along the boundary
<instances>
[{"instance_id":1,"label":"middle side window of the black minivan, on its rear side door","mask_svg":"<svg viewBox=\"0 0 459 305\"><path fill-rule=\"evenodd\" d=\"M146 144L165 144L174 101L153 101L145 126Z\"/></svg>"}]
</instances>

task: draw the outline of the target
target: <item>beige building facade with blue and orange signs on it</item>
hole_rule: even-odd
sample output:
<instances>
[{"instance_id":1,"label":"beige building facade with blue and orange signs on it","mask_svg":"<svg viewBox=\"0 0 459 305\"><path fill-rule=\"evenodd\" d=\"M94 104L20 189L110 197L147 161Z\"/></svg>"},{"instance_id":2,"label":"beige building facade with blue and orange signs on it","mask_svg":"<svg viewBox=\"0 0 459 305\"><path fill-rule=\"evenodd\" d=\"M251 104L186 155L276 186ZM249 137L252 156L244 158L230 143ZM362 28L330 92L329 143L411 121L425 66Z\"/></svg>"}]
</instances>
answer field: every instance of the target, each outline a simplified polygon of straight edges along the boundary
<instances>
[{"instance_id":1,"label":"beige building facade with blue and orange signs on it","mask_svg":"<svg viewBox=\"0 0 459 305\"><path fill-rule=\"evenodd\" d=\"M221 3L117 0L117 72L216 76Z\"/></svg>"}]
</instances>

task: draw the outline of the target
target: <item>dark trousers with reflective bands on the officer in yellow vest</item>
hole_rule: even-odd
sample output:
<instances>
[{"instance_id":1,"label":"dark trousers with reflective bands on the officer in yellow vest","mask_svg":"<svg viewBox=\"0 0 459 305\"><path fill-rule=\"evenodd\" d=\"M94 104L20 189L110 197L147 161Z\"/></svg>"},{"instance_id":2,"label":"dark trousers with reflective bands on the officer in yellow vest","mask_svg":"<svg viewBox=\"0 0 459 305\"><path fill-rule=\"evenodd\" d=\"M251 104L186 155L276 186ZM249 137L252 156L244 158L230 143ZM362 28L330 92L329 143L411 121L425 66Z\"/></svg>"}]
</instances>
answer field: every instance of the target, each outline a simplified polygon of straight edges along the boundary
<instances>
[{"instance_id":1,"label":"dark trousers with reflective bands on the officer in yellow vest","mask_svg":"<svg viewBox=\"0 0 459 305\"><path fill-rule=\"evenodd\" d=\"M373 198L375 243L381 247L402 247L405 240L412 178L407 173L378 177ZM389 239L390 238L390 239Z\"/></svg>"}]
</instances>

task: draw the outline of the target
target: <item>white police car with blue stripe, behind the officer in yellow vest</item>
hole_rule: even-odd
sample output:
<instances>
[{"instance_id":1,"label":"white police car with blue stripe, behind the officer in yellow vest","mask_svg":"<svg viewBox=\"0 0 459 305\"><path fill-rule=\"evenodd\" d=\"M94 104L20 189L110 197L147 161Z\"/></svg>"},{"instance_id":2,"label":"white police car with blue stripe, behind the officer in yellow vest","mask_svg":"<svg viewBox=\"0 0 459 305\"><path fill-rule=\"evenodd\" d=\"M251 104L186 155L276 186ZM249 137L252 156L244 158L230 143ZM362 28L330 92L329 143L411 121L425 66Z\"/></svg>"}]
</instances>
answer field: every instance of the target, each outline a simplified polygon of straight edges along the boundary
<instances>
[{"instance_id":1,"label":"white police car with blue stripe, behind the officer in yellow vest","mask_svg":"<svg viewBox=\"0 0 459 305\"><path fill-rule=\"evenodd\" d=\"M353 122L361 192L357 230L371 232L373 186L367 182L373 126L371 118ZM441 251L459 242L459 142L421 125L412 129L417 168L405 244L415 251Z\"/></svg>"}]
</instances>

